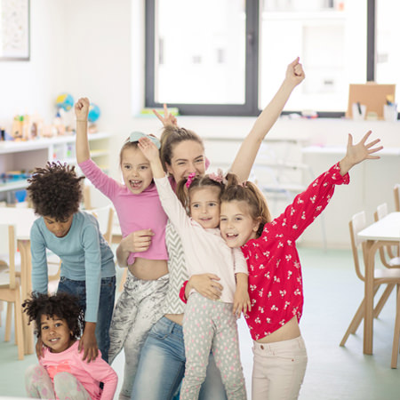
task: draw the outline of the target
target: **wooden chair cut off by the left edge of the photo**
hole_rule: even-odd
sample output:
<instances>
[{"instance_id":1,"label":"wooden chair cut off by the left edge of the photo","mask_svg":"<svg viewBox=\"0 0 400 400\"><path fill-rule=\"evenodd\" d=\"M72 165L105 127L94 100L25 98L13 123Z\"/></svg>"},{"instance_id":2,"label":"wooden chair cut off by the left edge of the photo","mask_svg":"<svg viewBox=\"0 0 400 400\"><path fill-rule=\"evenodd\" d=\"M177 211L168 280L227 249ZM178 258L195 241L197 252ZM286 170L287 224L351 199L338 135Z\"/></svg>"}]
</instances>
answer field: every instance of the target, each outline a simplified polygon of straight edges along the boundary
<instances>
[{"instance_id":1,"label":"wooden chair cut off by the left edge of the photo","mask_svg":"<svg viewBox=\"0 0 400 400\"><path fill-rule=\"evenodd\" d=\"M7 317L4 340L11 338L11 318L12 305L14 306L15 316L15 341L18 345L18 359L24 358L24 337L22 328L22 308L20 301L20 277L15 273L15 253L17 250L17 240L15 227L12 225L0 224L0 252L8 252L8 268L0 271L0 300L7 302ZM10 328L7 328L9 326Z\"/></svg>"}]
</instances>

